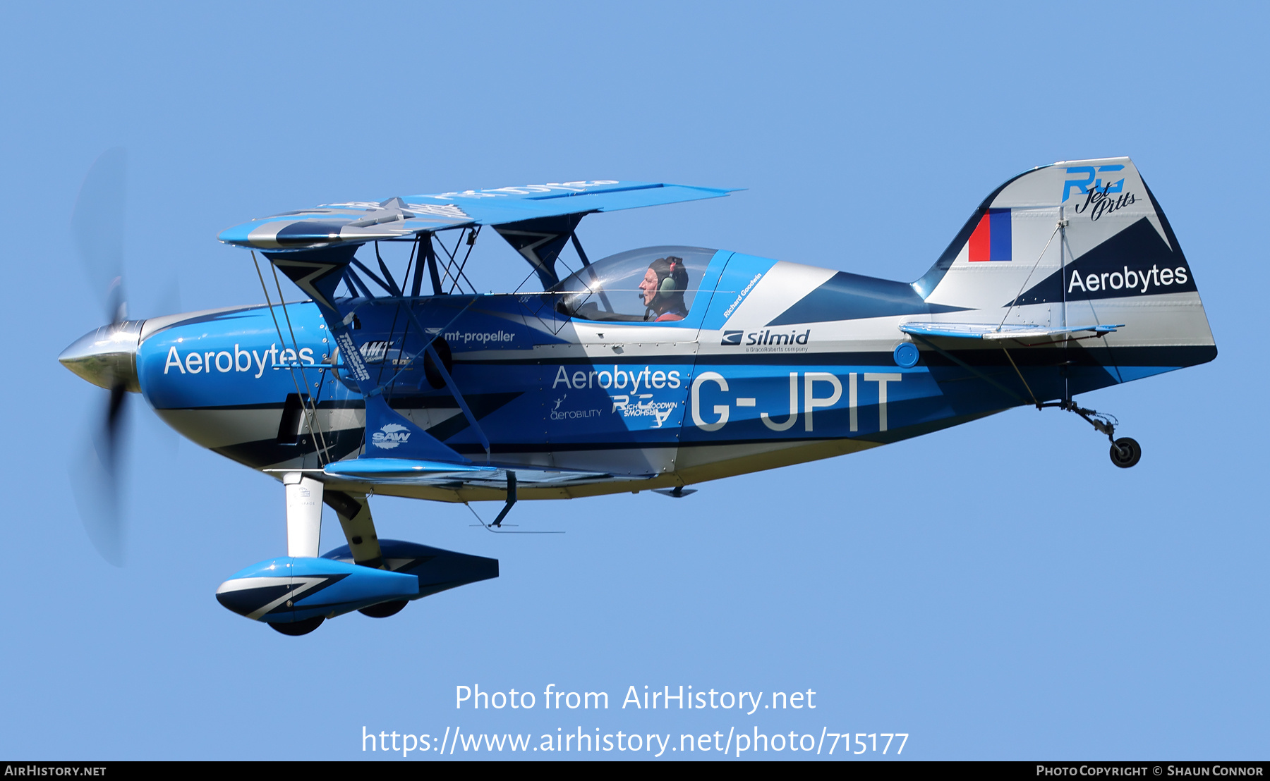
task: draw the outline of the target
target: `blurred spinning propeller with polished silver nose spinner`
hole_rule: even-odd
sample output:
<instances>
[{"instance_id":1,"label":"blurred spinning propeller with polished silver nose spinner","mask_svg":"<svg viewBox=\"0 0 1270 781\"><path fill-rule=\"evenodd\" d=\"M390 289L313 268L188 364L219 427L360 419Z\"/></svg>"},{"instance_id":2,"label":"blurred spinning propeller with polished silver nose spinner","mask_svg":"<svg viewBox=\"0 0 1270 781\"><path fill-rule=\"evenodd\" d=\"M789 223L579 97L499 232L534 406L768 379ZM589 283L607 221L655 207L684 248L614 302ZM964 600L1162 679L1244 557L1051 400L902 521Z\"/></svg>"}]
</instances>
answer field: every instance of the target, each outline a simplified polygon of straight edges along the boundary
<instances>
[{"instance_id":1,"label":"blurred spinning propeller with polished silver nose spinner","mask_svg":"<svg viewBox=\"0 0 1270 781\"><path fill-rule=\"evenodd\" d=\"M71 233L88 279L105 304L102 326L62 351L58 360L90 383L105 388L99 425L80 462L71 469L71 486L84 529L107 562L123 565L123 521L119 510L121 462L124 446L128 392L137 385L136 350L141 321L128 321L123 294L123 207L127 155L107 150L89 169L80 186Z\"/></svg>"}]
</instances>

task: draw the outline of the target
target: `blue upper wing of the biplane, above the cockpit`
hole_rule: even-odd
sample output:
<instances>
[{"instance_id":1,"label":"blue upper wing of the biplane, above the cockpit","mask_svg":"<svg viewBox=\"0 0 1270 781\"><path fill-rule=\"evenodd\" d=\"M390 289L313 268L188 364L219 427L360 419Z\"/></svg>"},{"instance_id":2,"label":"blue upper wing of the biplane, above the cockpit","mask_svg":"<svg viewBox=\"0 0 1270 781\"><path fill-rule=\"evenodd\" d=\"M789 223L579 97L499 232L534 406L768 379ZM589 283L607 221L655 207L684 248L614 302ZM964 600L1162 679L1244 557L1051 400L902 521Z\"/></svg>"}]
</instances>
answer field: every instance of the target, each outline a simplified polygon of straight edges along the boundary
<instances>
[{"instance_id":1,"label":"blue upper wing of the biplane, above the cockpit","mask_svg":"<svg viewBox=\"0 0 1270 781\"><path fill-rule=\"evenodd\" d=\"M225 243L272 252L403 238L465 226L500 226L528 219L615 212L685 200L720 198L735 190L645 181L565 181L384 202L331 203L262 217L221 231Z\"/></svg>"}]
</instances>

